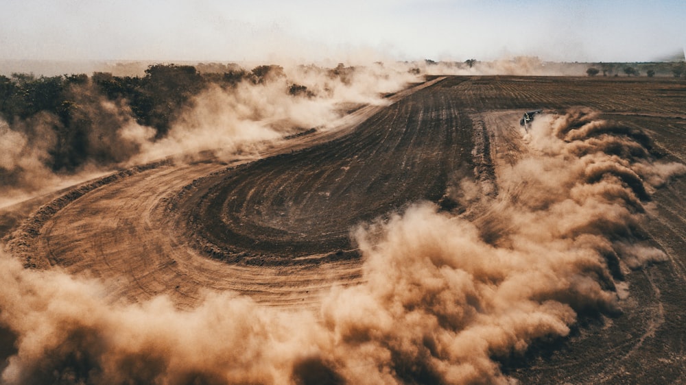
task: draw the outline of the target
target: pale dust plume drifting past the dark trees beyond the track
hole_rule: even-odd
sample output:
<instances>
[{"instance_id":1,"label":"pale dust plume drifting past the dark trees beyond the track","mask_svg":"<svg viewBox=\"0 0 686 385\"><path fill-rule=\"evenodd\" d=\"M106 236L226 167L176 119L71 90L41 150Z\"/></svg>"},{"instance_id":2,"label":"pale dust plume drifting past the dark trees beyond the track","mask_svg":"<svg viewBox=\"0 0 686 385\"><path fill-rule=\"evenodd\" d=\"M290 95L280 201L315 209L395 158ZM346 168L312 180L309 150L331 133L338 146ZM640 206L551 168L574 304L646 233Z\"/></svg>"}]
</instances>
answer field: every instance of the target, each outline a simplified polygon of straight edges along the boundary
<instances>
[{"instance_id":1,"label":"pale dust plume drifting past the dark trees beyond the track","mask_svg":"<svg viewBox=\"0 0 686 385\"><path fill-rule=\"evenodd\" d=\"M0 207L180 153L259 153L267 142L290 134L329 129L350 108L386 103L383 95L419 79L404 64L257 68L269 71L250 78L246 69L224 68L239 75L233 84L206 82L172 113L168 132L139 123L129 100L108 99L94 77L85 75L83 81L67 82L67 101L57 108L60 116L46 111L25 119L0 114ZM196 83L192 86L202 85Z\"/></svg>"}]
</instances>

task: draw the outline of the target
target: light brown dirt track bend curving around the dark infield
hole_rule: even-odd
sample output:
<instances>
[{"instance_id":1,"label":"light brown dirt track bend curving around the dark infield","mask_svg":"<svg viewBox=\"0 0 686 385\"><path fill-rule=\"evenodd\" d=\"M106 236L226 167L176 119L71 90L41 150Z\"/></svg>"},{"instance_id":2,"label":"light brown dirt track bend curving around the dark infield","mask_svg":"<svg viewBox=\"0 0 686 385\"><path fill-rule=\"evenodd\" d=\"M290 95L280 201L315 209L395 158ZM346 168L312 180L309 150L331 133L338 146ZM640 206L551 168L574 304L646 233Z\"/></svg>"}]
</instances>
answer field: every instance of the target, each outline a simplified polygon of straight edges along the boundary
<instances>
[{"instance_id":1,"label":"light brown dirt track bend curving around the dark infield","mask_svg":"<svg viewBox=\"0 0 686 385\"><path fill-rule=\"evenodd\" d=\"M399 92L393 100L397 103L401 97L438 81L440 79ZM400 130L390 130L381 138L375 129L368 129L359 137L350 135L363 119L371 118L367 123L370 127L388 125L384 119L388 119L389 114L385 111L389 109L393 111L392 106L362 108L355 112L356 116L342 119L337 129L287 140L285 147L266 149L265 154L276 160L309 154L305 162L331 162L335 156L318 160L307 149L319 142L333 140L343 144L341 148L348 158L354 158L370 140L381 143L384 138L397 138ZM246 161L235 160L228 164L228 170L249 169ZM324 164L320 166L326 169ZM276 195L265 195L274 190L267 191L260 185L260 182L279 177L277 171L248 181L246 193L267 202L280 199ZM85 273L104 279L110 301L144 301L168 295L180 308L189 308L200 303L208 290L234 290L272 306L307 308L317 306L319 293L332 284L359 281L359 259L348 258L346 254L327 263L310 262L322 257L313 255L294 258L290 266L256 266L260 264L259 260L250 265L230 265L206 258L189 247L183 229L176 226L182 219L176 216L180 211L174 205L178 203L178 197L190 197L190 192L197 190L196 185L203 179L226 172L226 163L211 159L189 164L165 161L88 182L41 208L14 233L10 246L31 262L37 256L51 256L50 260L41 262L40 267L59 265L73 274ZM351 187L354 175L347 171L336 175L327 170L322 177L325 180L341 177L340 190L346 194L344 189ZM300 181L300 185L289 186L285 191L277 189L281 198L295 189L307 197L307 205L313 204L311 201L316 200L317 195L309 192L309 177L300 175L292 180ZM249 206L238 207L250 212ZM318 210L327 208L322 206ZM301 217L311 212L316 210L294 211L293 215Z\"/></svg>"}]
</instances>

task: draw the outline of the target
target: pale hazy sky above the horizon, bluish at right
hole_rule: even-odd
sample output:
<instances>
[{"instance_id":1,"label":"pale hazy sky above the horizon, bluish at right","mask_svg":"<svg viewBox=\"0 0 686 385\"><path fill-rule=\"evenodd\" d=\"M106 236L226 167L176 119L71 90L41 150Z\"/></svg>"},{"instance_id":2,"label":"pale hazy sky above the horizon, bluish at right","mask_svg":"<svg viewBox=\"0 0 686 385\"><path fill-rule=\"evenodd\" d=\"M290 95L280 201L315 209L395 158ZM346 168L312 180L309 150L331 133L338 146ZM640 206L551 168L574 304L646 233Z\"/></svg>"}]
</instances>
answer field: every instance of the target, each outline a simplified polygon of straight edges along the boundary
<instances>
[{"instance_id":1,"label":"pale hazy sky above the horizon, bluish at right","mask_svg":"<svg viewBox=\"0 0 686 385\"><path fill-rule=\"evenodd\" d=\"M686 0L2 0L10 60L658 60Z\"/></svg>"}]
</instances>

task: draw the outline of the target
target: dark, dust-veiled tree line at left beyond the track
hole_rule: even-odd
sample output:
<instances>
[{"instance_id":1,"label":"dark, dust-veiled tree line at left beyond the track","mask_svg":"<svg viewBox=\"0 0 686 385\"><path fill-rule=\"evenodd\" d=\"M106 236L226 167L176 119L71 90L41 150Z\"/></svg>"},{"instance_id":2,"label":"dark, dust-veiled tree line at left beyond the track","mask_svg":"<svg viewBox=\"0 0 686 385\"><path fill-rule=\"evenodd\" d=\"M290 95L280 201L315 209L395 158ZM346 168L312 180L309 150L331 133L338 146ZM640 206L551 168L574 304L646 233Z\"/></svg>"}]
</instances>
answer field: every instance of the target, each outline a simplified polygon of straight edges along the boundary
<instances>
[{"instance_id":1,"label":"dark, dust-veiled tree line at left beyond the track","mask_svg":"<svg viewBox=\"0 0 686 385\"><path fill-rule=\"evenodd\" d=\"M341 64L328 73L330 77L346 77L352 69ZM201 73L195 66L176 64L154 64L148 66L145 75L135 77L102 72L90 77L0 75L0 120L5 122L0 121L0 136L3 130L12 130L29 141L48 142L45 163L52 171L74 171L89 161L119 162L126 156L107 147L117 145L113 136L122 119L152 127L154 138L163 138L185 108L193 107L193 97L208 86L228 89L241 82L265 84L280 77L285 73L276 65L252 70L227 66L221 73ZM294 97L314 96L299 84L289 84L285 92ZM102 101L113 107L107 110ZM132 149L130 154L134 152ZM0 169L0 174L8 171Z\"/></svg>"}]
</instances>

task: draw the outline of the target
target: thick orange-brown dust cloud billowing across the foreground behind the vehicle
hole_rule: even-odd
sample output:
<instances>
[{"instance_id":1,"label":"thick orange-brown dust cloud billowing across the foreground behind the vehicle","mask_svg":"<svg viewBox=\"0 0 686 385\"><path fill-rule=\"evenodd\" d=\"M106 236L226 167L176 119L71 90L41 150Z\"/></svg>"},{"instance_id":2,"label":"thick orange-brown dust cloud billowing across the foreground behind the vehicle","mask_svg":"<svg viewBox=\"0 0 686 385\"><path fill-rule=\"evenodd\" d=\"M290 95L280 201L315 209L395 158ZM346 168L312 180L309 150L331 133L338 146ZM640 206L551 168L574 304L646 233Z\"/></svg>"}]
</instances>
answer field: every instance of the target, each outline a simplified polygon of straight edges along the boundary
<instances>
[{"instance_id":1,"label":"thick orange-brown dust cloud billowing across the foreground behind the vehicle","mask_svg":"<svg viewBox=\"0 0 686 385\"><path fill-rule=\"evenodd\" d=\"M639 236L650 194L686 174L588 110L541 116L524 140L498 197L462 183L477 209L419 202L355 229L364 283L332 288L318 312L235 293L190 311L166 297L107 303L101 282L3 254L2 382L511 383L501 365L535 341L621 313L624 277L665 258Z\"/></svg>"}]
</instances>

